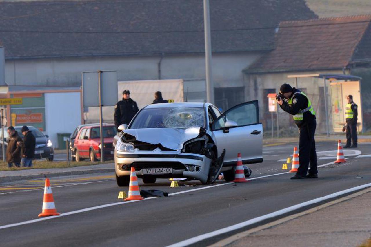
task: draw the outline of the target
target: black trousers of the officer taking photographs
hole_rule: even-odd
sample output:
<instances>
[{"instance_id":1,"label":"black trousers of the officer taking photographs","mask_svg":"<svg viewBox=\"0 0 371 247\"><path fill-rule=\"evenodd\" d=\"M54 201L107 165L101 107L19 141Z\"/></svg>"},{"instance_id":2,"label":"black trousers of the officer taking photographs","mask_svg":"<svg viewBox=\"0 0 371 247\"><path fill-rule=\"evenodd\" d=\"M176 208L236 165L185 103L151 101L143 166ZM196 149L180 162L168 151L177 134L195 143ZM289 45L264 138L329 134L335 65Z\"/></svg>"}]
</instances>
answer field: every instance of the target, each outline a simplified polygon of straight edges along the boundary
<instances>
[{"instance_id":1,"label":"black trousers of the officer taking photographs","mask_svg":"<svg viewBox=\"0 0 371 247\"><path fill-rule=\"evenodd\" d=\"M317 154L314 135L316 132L316 120L299 128L299 168L296 175L306 176L309 164L309 174L317 174Z\"/></svg>"}]
</instances>

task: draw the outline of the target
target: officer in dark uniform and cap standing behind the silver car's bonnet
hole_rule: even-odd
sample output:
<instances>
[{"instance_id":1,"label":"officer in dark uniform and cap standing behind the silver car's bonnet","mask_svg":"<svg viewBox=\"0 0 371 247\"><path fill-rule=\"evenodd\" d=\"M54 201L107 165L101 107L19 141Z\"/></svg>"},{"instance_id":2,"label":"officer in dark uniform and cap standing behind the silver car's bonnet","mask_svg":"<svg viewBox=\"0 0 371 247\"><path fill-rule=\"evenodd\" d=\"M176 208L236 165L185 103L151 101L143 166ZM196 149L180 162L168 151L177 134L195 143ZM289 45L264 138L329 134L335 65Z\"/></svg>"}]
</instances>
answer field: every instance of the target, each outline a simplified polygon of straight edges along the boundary
<instances>
[{"instance_id":1,"label":"officer in dark uniform and cap standing behind the silver car's bonnet","mask_svg":"<svg viewBox=\"0 0 371 247\"><path fill-rule=\"evenodd\" d=\"M130 98L130 91L124 90L122 92L122 101L117 102L115 105L114 120L116 129L124 123L129 124L138 111L137 102Z\"/></svg>"}]
</instances>

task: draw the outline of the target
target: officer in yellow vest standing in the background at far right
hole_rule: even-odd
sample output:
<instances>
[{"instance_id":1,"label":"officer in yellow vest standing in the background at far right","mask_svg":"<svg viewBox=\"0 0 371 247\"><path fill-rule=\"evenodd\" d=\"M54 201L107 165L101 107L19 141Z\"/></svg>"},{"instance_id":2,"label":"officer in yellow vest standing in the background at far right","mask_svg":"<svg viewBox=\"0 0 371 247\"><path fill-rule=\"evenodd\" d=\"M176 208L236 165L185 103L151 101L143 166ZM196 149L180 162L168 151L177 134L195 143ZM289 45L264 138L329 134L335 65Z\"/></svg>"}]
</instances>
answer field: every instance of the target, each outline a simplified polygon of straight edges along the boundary
<instances>
[{"instance_id":1,"label":"officer in yellow vest standing in the background at far right","mask_svg":"<svg viewBox=\"0 0 371 247\"><path fill-rule=\"evenodd\" d=\"M353 96L348 95L348 104L345 106L345 119L347 125L347 145L344 148L357 148L357 105L353 102ZM343 128L344 131L344 128ZM353 145L351 142L353 141Z\"/></svg>"}]
</instances>

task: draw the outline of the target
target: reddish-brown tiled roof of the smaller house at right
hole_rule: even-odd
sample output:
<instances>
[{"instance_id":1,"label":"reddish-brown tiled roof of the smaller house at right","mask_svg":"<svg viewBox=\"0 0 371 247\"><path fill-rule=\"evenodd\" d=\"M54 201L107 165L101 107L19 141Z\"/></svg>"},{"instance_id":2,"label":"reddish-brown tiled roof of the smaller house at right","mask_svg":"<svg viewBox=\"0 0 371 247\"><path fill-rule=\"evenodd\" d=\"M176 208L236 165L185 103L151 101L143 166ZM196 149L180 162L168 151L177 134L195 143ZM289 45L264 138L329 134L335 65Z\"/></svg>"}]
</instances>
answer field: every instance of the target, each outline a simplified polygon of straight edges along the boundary
<instances>
[{"instance_id":1,"label":"reddish-brown tiled roof of the smaller house at right","mask_svg":"<svg viewBox=\"0 0 371 247\"><path fill-rule=\"evenodd\" d=\"M356 57L371 58L370 21L366 15L281 22L275 50L245 71L342 69Z\"/></svg>"}]
</instances>

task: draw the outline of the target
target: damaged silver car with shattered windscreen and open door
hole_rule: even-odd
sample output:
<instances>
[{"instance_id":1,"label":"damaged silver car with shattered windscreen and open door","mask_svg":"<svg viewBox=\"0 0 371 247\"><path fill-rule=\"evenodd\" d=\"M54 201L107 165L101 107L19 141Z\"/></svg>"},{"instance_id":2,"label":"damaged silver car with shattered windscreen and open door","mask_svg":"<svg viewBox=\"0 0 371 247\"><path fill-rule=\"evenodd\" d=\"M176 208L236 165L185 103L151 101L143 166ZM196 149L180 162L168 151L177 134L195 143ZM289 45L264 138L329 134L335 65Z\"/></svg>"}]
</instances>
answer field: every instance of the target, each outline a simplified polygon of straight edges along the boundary
<instances>
[{"instance_id":1,"label":"damaged silver car with shattered windscreen and open door","mask_svg":"<svg viewBox=\"0 0 371 247\"><path fill-rule=\"evenodd\" d=\"M115 139L118 186L128 186L130 169L144 183L188 178L212 183L220 172L234 179L237 154L243 164L263 162L257 101L223 114L210 103L161 103L142 108Z\"/></svg>"}]
</instances>

